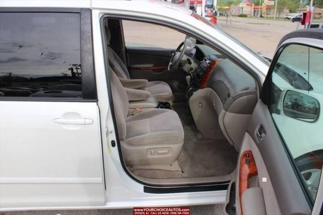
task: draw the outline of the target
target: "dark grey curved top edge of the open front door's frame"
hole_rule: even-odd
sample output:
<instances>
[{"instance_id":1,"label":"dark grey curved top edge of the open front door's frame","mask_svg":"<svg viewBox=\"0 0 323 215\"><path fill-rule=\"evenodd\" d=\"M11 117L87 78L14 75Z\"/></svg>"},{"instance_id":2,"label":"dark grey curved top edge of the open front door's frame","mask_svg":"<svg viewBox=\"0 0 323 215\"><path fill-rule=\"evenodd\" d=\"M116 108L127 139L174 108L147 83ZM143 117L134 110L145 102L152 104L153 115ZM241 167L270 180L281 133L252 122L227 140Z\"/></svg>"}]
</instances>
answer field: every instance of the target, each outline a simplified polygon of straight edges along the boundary
<instances>
[{"instance_id":1,"label":"dark grey curved top edge of the open front door's frame","mask_svg":"<svg viewBox=\"0 0 323 215\"><path fill-rule=\"evenodd\" d=\"M289 34L286 34L281 41L278 43L278 47L286 40L302 37L302 38L312 38L323 40L323 28L305 28L293 31Z\"/></svg>"}]
</instances>

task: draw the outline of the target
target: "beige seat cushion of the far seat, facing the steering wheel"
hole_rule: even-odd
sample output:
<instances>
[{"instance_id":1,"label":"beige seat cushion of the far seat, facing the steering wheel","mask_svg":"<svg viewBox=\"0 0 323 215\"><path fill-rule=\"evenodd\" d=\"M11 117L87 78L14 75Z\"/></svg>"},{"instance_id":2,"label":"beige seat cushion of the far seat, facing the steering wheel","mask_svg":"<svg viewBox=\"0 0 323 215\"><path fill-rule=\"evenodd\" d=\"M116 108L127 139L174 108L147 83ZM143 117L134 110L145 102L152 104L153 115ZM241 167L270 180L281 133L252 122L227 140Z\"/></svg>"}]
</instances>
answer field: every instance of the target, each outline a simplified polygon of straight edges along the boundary
<instances>
[{"instance_id":1,"label":"beige seat cushion of the far seat, facing the steering wheel","mask_svg":"<svg viewBox=\"0 0 323 215\"><path fill-rule=\"evenodd\" d=\"M149 81L144 89L149 91L158 101L171 103L174 100L171 87L164 81Z\"/></svg>"}]
</instances>

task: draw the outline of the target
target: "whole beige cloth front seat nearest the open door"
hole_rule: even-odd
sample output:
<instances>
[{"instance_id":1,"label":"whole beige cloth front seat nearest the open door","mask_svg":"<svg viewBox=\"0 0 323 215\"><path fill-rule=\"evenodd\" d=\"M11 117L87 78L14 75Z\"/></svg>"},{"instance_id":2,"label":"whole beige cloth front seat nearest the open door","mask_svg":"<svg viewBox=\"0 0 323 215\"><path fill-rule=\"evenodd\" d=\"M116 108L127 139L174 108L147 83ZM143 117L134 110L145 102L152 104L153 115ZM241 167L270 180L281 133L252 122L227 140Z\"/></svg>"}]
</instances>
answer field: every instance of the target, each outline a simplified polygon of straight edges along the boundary
<instances>
[{"instance_id":1,"label":"whole beige cloth front seat nearest the open door","mask_svg":"<svg viewBox=\"0 0 323 215\"><path fill-rule=\"evenodd\" d=\"M128 117L129 101L110 68L113 103L127 165L172 164L182 151L184 130L176 112L153 109Z\"/></svg>"}]
</instances>

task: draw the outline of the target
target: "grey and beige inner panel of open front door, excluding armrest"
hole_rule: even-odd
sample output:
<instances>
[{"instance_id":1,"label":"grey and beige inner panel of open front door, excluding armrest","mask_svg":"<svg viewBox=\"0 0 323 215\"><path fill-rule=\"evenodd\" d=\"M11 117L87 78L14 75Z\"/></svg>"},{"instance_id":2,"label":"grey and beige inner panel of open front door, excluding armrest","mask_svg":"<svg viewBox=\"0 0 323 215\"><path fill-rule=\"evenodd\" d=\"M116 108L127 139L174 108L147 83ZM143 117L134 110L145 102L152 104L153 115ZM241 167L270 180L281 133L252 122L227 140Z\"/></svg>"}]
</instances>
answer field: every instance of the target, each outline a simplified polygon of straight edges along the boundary
<instances>
[{"instance_id":1,"label":"grey and beige inner panel of open front door, excluding armrest","mask_svg":"<svg viewBox=\"0 0 323 215\"><path fill-rule=\"evenodd\" d=\"M264 132L262 138L258 137L260 125ZM247 150L250 150L254 156L258 176L257 183L262 188L267 213L309 214L311 210L304 192L272 121L268 107L262 101L258 101L252 114L240 149L239 160ZM240 168L238 164L238 170ZM237 214L241 213L239 176L237 174L236 179Z\"/></svg>"}]
</instances>

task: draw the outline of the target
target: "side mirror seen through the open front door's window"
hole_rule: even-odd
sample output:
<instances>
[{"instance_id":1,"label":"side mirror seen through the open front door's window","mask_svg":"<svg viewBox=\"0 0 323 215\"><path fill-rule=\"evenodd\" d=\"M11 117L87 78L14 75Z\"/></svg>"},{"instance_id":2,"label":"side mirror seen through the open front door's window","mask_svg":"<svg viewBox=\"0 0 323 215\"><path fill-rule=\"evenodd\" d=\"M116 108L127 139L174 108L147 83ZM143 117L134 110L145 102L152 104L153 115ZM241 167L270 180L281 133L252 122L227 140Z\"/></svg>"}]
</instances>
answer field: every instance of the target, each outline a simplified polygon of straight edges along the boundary
<instances>
[{"instance_id":1,"label":"side mirror seen through the open front door's window","mask_svg":"<svg viewBox=\"0 0 323 215\"><path fill-rule=\"evenodd\" d=\"M320 106L318 100L308 93L286 90L282 110L287 117L315 122L319 116Z\"/></svg>"}]
</instances>

